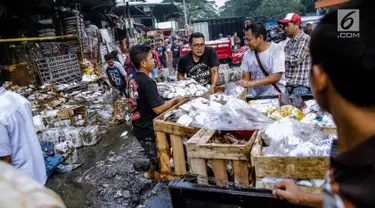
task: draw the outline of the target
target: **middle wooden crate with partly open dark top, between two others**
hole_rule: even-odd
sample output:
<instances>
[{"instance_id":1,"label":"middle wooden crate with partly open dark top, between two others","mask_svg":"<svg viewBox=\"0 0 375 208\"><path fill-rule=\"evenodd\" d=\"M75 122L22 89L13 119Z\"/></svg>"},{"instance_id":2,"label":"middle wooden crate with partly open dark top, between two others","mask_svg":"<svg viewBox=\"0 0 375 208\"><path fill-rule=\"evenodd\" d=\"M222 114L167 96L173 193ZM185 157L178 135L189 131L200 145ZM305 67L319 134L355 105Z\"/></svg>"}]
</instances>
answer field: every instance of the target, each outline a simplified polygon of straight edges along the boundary
<instances>
[{"instance_id":1,"label":"middle wooden crate with partly open dark top, between two others","mask_svg":"<svg viewBox=\"0 0 375 208\"><path fill-rule=\"evenodd\" d=\"M187 152L193 174L198 177L199 184L208 184L207 160L212 161L212 170L216 179L228 181L226 161L233 163L234 183L250 185L252 182L249 174L250 151L255 141L254 133L250 140L241 145L208 143L217 131L201 129L187 143ZM225 182L217 182L218 186L227 186Z\"/></svg>"}]
</instances>

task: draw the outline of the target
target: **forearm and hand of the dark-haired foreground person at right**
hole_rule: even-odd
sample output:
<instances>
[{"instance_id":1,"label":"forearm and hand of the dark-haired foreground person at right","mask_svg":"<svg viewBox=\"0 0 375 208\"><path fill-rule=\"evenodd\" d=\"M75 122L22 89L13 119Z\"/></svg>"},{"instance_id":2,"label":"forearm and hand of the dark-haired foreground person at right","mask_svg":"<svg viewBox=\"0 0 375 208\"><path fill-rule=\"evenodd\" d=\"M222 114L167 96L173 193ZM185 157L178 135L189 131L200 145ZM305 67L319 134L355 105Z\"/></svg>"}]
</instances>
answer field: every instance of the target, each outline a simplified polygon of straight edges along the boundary
<instances>
[{"instance_id":1,"label":"forearm and hand of the dark-haired foreground person at right","mask_svg":"<svg viewBox=\"0 0 375 208\"><path fill-rule=\"evenodd\" d=\"M272 193L275 198L286 200L295 205L319 208L323 207L322 194L307 193L291 180L284 180L276 184Z\"/></svg>"}]
</instances>

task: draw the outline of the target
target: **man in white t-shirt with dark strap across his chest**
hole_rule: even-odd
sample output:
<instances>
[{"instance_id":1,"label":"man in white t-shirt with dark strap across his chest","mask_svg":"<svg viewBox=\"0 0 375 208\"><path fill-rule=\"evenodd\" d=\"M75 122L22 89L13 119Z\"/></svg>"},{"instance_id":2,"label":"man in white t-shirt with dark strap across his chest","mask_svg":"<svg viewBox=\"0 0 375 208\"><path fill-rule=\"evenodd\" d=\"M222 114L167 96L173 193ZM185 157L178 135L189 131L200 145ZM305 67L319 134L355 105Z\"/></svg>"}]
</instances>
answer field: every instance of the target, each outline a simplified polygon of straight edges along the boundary
<instances>
[{"instance_id":1,"label":"man in white t-shirt with dark strap across his chest","mask_svg":"<svg viewBox=\"0 0 375 208\"><path fill-rule=\"evenodd\" d=\"M248 96L278 95L285 92L284 48L266 41L266 28L260 23L246 27L246 41L250 50L246 51L241 68L243 79L236 84L249 89ZM264 68L261 69L259 61Z\"/></svg>"}]
</instances>

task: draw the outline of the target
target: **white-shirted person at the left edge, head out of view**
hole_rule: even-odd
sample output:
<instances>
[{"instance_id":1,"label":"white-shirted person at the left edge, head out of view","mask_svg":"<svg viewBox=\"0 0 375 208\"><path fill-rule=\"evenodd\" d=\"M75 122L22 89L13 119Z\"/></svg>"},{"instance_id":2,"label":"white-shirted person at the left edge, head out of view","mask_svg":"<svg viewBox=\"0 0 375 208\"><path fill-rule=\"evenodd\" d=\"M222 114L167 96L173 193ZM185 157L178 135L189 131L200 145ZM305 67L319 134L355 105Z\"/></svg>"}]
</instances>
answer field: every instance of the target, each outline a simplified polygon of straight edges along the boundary
<instances>
[{"instance_id":1,"label":"white-shirted person at the left edge, head out of view","mask_svg":"<svg viewBox=\"0 0 375 208\"><path fill-rule=\"evenodd\" d=\"M31 104L21 95L2 87L1 73L0 70L0 160L44 185L47 173L35 133Z\"/></svg>"}]
</instances>

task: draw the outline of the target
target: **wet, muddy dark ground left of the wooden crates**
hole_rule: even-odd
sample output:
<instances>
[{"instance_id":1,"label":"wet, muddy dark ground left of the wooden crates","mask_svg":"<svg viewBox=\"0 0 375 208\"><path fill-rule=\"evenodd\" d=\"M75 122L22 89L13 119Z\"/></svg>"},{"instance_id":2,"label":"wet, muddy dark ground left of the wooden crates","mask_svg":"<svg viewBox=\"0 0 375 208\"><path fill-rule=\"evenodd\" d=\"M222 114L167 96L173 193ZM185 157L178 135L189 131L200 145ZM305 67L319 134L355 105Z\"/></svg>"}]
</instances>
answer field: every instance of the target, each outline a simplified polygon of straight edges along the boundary
<instances>
[{"instance_id":1,"label":"wet, muddy dark ground left of the wooden crates","mask_svg":"<svg viewBox=\"0 0 375 208\"><path fill-rule=\"evenodd\" d=\"M120 137L124 131L129 132L126 139ZM54 174L46 184L67 207L136 207L149 198L154 184L133 168L146 157L129 126L108 129L98 144L78 149L78 157L81 167Z\"/></svg>"}]
</instances>

